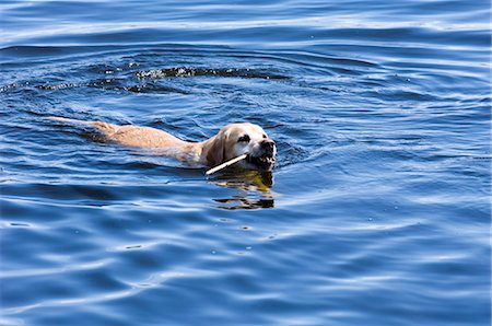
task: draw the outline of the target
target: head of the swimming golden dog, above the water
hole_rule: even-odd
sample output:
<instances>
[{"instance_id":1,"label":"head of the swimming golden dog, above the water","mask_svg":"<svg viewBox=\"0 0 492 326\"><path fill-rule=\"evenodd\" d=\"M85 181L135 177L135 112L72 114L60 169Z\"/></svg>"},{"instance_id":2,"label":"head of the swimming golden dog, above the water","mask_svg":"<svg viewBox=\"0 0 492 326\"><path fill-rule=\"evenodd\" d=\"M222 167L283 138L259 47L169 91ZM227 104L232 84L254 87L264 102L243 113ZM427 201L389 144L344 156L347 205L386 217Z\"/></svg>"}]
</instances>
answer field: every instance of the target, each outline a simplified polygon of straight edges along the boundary
<instances>
[{"instance_id":1,"label":"head of the swimming golden dog, above the water","mask_svg":"<svg viewBox=\"0 0 492 326\"><path fill-rule=\"evenodd\" d=\"M244 168L270 171L276 162L276 142L265 130L253 124L231 124L212 137L207 145L207 162L218 165L247 153L237 163Z\"/></svg>"}]
</instances>

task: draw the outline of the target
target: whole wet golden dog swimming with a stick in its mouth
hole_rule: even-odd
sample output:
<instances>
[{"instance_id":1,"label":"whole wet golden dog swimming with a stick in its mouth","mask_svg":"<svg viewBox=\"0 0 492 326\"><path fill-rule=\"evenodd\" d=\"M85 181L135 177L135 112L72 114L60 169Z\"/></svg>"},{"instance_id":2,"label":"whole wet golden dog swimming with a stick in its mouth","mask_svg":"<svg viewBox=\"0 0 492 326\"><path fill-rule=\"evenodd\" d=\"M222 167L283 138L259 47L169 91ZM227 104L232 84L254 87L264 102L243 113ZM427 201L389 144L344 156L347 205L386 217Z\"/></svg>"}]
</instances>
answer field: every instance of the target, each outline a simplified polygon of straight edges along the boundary
<instances>
[{"instance_id":1,"label":"whole wet golden dog swimming with a stick in its mouth","mask_svg":"<svg viewBox=\"0 0 492 326\"><path fill-rule=\"evenodd\" d=\"M152 149L157 154L173 156L190 165L215 166L242 154L247 156L236 165L246 170L271 171L276 163L276 142L261 127L249 123L230 124L208 140L189 142L151 127L118 126L62 117L49 118L61 123L90 126L99 131L109 142Z\"/></svg>"}]
</instances>

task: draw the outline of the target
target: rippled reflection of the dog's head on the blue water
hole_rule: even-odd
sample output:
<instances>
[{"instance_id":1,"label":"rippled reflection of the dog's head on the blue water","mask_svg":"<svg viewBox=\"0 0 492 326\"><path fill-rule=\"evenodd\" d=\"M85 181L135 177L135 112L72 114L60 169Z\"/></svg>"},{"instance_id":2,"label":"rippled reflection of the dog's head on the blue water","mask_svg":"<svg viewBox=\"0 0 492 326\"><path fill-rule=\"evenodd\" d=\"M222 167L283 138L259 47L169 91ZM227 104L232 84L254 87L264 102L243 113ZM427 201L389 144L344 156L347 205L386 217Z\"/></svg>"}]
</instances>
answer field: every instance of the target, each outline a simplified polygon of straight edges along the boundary
<instances>
[{"instance_id":1,"label":"rippled reflection of the dog's head on the blue water","mask_svg":"<svg viewBox=\"0 0 492 326\"><path fill-rule=\"evenodd\" d=\"M231 170L209 182L221 187L239 190L232 198L213 199L220 203L215 206L216 208L236 210L274 207L273 193L271 191L273 175L270 171Z\"/></svg>"}]
</instances>

